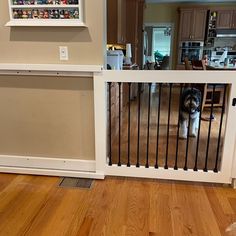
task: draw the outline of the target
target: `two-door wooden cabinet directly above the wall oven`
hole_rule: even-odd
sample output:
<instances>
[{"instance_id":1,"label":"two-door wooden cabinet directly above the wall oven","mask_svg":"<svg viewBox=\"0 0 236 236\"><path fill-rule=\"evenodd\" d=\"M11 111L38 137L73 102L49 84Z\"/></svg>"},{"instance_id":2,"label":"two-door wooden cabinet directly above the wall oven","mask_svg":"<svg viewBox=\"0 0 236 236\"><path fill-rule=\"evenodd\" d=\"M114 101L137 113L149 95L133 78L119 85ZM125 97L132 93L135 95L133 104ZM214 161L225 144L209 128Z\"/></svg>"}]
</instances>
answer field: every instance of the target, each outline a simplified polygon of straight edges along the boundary
<instances>
[{"instance_id":1,"label":"two-door wooden cabinet directly above the wall oven","mask_svg":"<svg viewBox=\"0 0 236 236\"><path fill-rule=\"evenodd\" d=\"M206 28L206 9L180 10L180 41L203 41Z\"/></svg>"}]
</instances>

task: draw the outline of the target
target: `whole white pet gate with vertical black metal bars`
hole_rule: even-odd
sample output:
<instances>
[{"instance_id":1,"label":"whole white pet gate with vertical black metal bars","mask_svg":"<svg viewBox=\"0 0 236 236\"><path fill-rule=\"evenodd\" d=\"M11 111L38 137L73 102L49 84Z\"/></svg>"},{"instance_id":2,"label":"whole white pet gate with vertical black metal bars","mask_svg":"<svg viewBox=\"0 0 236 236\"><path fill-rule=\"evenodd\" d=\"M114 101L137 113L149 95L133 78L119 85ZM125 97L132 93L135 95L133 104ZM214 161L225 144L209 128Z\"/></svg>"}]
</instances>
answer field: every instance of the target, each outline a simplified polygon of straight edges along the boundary
<instances>
[{"instance_id":1,"label":"whole white pet gate with vertical black metal bars","mask_svg":"<svg viewBox=\"0 0 236 236\"><path fill-rule=\"evenodd\" d=\"M212 87L211 99L209 108L200 111L197 135L193 138L188 132L186 139L180 139L180 94L187 84L194 88L206 83ZM218 86L224 91L219 108L214 101ZM113 176L230 183L236 133L236 108L232 104L235 93L235 72L230 71L97 74L96 170Z\"/></svg>"}]
</instances>

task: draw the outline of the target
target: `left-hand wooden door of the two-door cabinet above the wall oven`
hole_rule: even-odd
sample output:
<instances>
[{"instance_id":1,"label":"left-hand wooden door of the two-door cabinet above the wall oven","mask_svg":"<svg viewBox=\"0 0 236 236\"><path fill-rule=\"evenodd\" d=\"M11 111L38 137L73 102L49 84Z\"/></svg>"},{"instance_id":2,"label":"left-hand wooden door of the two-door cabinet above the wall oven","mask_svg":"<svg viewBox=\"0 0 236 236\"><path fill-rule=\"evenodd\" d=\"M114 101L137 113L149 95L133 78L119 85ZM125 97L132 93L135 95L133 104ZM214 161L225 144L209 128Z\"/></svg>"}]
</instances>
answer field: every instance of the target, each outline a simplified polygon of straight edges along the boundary
<instances>
[{"instance_id":1,"label":"left-hand wooden door of the two-door cabinet above the wall oven","mask_svg":"<svg viewBox=\"0 0 236 236\"><path fill-rule=\"evenodd\" d=\"M193 10L184 9L180 12L180 41L191 40Z\"/></svg>"}]
</instances>

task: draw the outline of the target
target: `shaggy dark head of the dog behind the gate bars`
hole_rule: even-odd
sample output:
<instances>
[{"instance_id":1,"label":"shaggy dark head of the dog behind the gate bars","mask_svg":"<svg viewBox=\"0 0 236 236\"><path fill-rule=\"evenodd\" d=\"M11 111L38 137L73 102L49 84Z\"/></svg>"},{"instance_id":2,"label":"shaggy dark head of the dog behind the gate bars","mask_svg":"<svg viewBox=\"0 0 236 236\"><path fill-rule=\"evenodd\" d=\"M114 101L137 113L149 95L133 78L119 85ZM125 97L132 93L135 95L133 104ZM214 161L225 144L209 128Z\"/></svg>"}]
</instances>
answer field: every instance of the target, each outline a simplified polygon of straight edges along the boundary
<instances>
[{"instance_id":1,"label":"shaggy dark head of the dog behind the gate bars","mask_svg":"<svg viewBox=\"0 0 236 236\"><path fill-rule=\"evenodd\" d=\"M201 92L195 88L185 89L182 94L182 108L183 110L195 113L199 111L201 104Z\"/></svg>"}]
</instances>

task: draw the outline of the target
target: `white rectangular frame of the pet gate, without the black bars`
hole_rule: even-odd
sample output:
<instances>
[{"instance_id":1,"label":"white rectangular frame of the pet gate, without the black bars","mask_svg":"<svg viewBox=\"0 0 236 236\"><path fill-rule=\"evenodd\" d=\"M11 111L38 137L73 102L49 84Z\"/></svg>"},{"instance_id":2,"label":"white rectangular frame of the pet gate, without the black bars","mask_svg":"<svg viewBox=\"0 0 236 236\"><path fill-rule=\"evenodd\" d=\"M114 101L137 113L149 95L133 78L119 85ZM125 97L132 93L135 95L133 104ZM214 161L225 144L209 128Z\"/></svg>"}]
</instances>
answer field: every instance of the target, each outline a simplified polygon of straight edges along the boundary
<instances>
[{"instance_id":1,"label":"white rectangular frame of the pet gate, without the black bars","mask_svg":"<svg viewBox=\"0 0 236 236\"><path fill-rule=\"evenodd\" d=\"M107 82L140 82L140 83L217 83L229 84L227 113L223 154L219 172L211 170L187 171L160 167L145 168L126 165L109 166L107 163ZM94 111L95 111L95 155L96 172L110 176L142 177L156 179L172 179L184 181L200 181L214 183L232 182L232 164L236 134L236 109L231 101L236 94L236 76L234 71L106 71L94 75Z\"/></svg>"}]
</instances>

